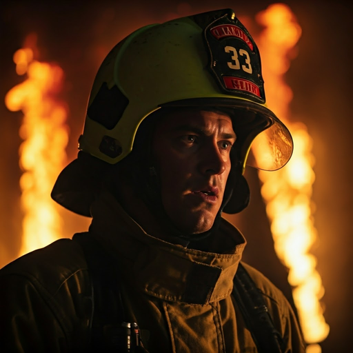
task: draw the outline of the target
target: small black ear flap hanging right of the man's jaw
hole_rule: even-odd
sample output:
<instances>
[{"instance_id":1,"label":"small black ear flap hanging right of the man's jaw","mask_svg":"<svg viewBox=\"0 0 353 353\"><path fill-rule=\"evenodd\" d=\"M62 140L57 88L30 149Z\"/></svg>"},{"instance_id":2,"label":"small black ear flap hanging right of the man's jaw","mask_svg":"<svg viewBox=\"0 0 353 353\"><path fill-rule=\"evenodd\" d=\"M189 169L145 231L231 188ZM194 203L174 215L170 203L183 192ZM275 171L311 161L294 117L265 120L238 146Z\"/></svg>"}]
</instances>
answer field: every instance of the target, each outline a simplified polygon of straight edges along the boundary
<instances>
[{"instance_id":1,"label":"small black ear flap hanging right of the man's jaw","mask_svg":"<svg viewBox=\"0 0 353 353\"><path fill-rule=\"evenodd\" d=\"M223 212L228 214L239 213L248 207L250 203L250 188L248 181L242 174L236 175L236 180L231 190L226 189L228 201L223 207Z\"/></svg>"}]
</instances>

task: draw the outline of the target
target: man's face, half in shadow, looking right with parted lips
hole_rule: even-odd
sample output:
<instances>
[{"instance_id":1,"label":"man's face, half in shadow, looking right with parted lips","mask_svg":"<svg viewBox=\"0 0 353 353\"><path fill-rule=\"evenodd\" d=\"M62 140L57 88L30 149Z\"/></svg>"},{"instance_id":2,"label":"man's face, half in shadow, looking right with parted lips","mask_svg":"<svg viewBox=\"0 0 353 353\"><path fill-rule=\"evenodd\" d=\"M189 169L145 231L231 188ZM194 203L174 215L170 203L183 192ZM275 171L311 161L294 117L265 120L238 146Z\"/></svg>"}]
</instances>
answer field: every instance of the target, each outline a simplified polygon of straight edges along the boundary
<instances>
[{"instance_id":1,"label":"man's face, half in shadow, looking right with parted lips","mask_svg":"<svg viewBox=\"0 0 353 353\"><path fill-rule=\"evenodd\" d=\"M157 124L153 152L162 203L180 230L199 234L212 228L235 139L232 121L222 112L172 112Z\"/></svg>"}]
</instances>

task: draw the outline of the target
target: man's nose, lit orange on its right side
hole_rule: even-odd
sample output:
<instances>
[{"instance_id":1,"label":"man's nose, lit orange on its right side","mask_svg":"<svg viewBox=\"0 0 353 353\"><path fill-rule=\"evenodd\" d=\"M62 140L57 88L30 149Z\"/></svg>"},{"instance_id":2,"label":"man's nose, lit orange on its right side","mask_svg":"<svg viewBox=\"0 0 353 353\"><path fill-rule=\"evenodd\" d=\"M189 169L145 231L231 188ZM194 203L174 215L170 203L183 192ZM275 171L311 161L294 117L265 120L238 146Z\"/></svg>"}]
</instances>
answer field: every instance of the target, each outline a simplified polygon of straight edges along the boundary
<instances>
[{"instance_id":1,"label":"man's nose, lit orange on its right side","mask_svg":"<svg viewBox=\"0 0 353 353\"><path fill-rule=\"evenodd\" d=\"M202 174L218 175L225 171L227 161L219 151L217 145L212 145L203 150L199 169Z\"/></svg>"}]
</instances>

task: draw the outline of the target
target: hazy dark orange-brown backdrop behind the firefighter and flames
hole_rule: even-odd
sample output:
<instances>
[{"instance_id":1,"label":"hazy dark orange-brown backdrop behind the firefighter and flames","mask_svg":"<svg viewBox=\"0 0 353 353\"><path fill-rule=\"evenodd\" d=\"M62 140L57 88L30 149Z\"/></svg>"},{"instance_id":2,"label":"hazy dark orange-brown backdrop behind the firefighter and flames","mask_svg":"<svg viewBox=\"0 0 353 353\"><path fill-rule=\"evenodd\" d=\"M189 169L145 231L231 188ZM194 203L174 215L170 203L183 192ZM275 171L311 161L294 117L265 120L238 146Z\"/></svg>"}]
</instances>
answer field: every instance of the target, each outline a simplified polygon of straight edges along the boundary
<instances>
[{"instance_id":1,"label":"hazy dark orange-brown backdrop behind the firefighter and flames","mask_svg":"<svg viewBox=\"0 0 353 353\"><path fill-rule=\"evenodd\" d=\"M313 141L312 204L317 240L310 251L316 256L316 270L325 288L321 305L330 325L330 334L320 345L324 353L344 353L350 351L353 328L353 3L279 2L290 7L302 29L285 81L294 93L290 119L305 123ZM77 138L94 75L117 41L141 26L215 8L232 8L238 17L254 19L271 3L276 2L1 1L0 267L15 259L21 247L19 128L23 113L10 112L4 97L24 80L16 74L12 56L28 34L37 34L37 59L57 63L65 72L58 99L68 110L70 139L66 152L70 162L77 156ZM247 210L232 218L248 239L244 259L262 270L291 301L287 270L274 252L261 182L254 170L248 169L246 176L252 201ZM65 221L62 236L83 231L89 223L65 210L60 212Z\"/></svg>"}]
</instances>

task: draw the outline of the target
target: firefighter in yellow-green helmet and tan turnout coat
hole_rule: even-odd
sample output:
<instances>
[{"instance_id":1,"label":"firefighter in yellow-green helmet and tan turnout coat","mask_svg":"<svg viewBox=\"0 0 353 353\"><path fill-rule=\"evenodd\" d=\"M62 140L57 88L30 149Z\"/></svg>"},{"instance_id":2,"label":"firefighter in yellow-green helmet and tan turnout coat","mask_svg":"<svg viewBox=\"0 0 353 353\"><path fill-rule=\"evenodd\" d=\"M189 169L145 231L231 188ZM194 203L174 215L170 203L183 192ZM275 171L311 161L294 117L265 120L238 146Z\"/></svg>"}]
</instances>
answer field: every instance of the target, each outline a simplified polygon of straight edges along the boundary
<instances>
[{"instance_id":1,"label":"firefighter in yellow-green helmet and tan turnout coat","mask_svg":"<svg viewBox=\"0 0 353 353\"><path fill-rule=\"evenodd\" d=\"M233 10L132 32L101 64L52 190L90 228L1 270L1 351L305 352L292 307L222 217L249 203L245 165L291 154Z\"/></svg>"}]
</instances>

